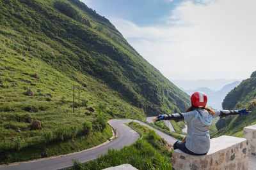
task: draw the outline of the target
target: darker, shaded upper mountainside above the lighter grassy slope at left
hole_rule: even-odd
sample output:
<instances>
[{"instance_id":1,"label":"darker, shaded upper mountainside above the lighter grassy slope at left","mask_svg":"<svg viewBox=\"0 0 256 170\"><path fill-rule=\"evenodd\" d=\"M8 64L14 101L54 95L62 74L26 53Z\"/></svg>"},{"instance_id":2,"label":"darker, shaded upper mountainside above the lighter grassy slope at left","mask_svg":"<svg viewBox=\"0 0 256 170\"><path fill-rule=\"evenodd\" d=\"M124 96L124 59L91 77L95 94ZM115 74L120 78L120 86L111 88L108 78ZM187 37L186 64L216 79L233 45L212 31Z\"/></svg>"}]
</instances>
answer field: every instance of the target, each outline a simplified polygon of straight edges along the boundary
<instances>
[{"instance_id":1,"label":"darker, shaded upper mountainside above the lighter grassy slope at left","mask_svg":"<svg viewBox=\"0 0 256 170\"><path fill-rule=\"evenodd\" d=\"M68 72L76 69L102 80L147 115L188 106L184 92L143 59L106 18L78 0L2 1L1 6L3 27L51 46L58 53L39 51L35 57L67 76L74 78Z\"/></svg>"}]
</instances>

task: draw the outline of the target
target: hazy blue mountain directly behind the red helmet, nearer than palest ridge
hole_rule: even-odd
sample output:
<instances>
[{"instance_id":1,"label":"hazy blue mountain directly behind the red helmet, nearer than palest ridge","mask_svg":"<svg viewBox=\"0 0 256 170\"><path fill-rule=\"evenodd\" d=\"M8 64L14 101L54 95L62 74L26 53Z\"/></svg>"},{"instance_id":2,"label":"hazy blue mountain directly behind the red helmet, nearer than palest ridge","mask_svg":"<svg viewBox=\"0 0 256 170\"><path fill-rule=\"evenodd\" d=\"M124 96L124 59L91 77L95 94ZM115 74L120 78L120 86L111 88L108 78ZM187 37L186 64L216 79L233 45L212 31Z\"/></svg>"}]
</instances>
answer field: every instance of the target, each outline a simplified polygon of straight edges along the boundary
<instances>
[{"instance_id":1,"label":"hazy blue mountain directly behind the red helmet, nearer than palest ridge","mask_svg":"<svg viewBox=\"0 0 256 170\"><path fill-rule=\"evenodd\" d=\"M214 109L222 109L222 101L225 98L225 96L230 92L230 90L234 89L237 85L239 85L240 81L234 81L232 83L229 83L228 85L225 85L218 91L214 91L209 89L208 87L200 87L195 90L184 90L187 94L191 96L193 92L201 91L207 94L208 102L207 106L211 106Z\"/></svg>"}]
</instances>

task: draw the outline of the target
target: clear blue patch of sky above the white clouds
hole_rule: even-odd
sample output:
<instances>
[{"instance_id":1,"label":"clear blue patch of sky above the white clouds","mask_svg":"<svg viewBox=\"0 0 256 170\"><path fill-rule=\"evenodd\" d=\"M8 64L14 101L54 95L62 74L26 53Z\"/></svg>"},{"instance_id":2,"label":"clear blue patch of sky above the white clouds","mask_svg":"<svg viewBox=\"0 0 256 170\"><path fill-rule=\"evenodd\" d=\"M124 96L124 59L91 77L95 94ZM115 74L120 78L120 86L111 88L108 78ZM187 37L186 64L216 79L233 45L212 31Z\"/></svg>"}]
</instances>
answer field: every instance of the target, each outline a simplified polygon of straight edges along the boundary
<instances>
[{"instance_id":1,"label":"clear blue patch of sky above the white clouds","mask_svg":"<svg viewBox=\"0 0 256 170\"><path fill-rule=\"evenodd\" d=\"M163 18L182 1L168 0L83 0L97 13L108 17L120 17L137 25L166 24Z\"/></svg>"}]
</instances>

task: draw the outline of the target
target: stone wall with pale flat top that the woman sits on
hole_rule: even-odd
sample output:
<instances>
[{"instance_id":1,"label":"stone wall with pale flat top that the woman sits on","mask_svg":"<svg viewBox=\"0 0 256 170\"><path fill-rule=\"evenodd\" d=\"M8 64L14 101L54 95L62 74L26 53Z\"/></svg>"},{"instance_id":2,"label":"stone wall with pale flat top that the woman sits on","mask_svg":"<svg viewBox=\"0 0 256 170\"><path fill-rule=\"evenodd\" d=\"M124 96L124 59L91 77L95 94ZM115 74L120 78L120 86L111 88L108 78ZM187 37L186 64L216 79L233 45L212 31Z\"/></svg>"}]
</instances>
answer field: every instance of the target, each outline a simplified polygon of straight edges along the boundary
<instances>
[{"instance_id":1,"label":"stone wall with pale flat top that the woman sits on","mask_svg":"<svg viewBox=\"0 0 256 170\"><path fill-rule=\"evenodd\" d=\"M194 156L174 150L173 169L248 169L248 143L244 138L220 136L211 139L207 155Z\"/></svg>"}]
</instances>

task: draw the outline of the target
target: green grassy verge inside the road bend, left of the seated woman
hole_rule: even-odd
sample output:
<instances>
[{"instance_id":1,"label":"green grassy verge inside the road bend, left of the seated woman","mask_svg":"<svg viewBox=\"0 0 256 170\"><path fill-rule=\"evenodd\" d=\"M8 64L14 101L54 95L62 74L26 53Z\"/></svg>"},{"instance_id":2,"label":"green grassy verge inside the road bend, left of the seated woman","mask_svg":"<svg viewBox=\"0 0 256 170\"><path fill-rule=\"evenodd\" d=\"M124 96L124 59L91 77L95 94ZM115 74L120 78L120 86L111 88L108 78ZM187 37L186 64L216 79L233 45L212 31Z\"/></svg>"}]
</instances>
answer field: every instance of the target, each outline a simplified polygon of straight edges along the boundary
<instances>
[{"instance_id":1,"label":"green grassy verge inside the road bend, left of the seated woman","mask_svg":"<svg viewBox=\"0 0 256 170\"><path fill-rule=\"evenodd\" d=\"M121 150L108 150L97 160L81 164L74 161L72 169L104 169L120 164L131 164L137 169L172 169L170 163L170 146L156 132L138 123L131 125L143 132L143 139L138 139L130 146L124 146Z\"/></svg>"}]
</instances>

